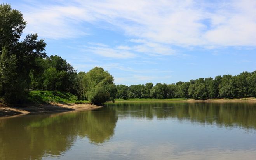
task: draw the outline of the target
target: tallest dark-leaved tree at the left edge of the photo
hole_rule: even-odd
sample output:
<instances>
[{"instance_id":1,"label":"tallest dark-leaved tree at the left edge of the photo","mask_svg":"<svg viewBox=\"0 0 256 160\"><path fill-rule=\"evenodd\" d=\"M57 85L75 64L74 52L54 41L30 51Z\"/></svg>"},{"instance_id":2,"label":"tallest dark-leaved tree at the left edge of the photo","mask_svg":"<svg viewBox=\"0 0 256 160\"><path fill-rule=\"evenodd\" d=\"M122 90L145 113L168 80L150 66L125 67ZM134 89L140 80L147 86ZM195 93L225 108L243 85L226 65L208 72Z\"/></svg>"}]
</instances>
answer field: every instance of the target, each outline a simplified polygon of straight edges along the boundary
<instances>
[{"instance_id":1,"label":"tallest dark-leaved tree at the left edge of the photo","mask_svg":"<svg viewBox=\"0 0 256 160\"><path fill-rule=\"evenodd\" d=\"M28 35L23 41L19 41L26 27L26 21L21 12L13 10L9 4L0 5L0 19L0 56L5 54L2 56L0 73L0 77L5 77L5 81L1 80L0 85L13 81L12 76L6 75L10 68L15 68L17 73L14 88L10 89L8 94L1 92L0 96L8 103L21 103L21 97L30 83L30 71L36 67L35 59L46 56L44 52L46 44L44 40L37 40L37 34ZM15 63L7 64L7 59L12 61L15 59Z\"/></svg>"}]
</instances>

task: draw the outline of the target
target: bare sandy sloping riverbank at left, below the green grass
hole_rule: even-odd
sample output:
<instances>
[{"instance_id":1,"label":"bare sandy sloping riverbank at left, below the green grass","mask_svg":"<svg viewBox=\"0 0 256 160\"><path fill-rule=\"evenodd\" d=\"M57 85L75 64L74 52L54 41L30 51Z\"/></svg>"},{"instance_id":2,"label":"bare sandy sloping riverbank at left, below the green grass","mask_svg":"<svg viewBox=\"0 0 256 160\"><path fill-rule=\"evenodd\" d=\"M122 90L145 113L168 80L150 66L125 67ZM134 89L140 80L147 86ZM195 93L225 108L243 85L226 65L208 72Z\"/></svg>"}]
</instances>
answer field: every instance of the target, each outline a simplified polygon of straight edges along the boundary
<instances>
[{"instance_id":1,"label":"bare sandy sloping riverbank at left, below the green grass","mask_svg":"<svg viewBox=\"0 0 256 160\"><path fill-rule=\"evenodd\" d=\"M91 110L101 108L94 104L61 104L61 103L50 103L31 105L25 107L10 107L0 105L0 117L1 116L12 116L12 115L25 115L30 113L54 113L54 112L66 112L66 111L77 111L77 110Z\"/></svg>"}]
</instances>

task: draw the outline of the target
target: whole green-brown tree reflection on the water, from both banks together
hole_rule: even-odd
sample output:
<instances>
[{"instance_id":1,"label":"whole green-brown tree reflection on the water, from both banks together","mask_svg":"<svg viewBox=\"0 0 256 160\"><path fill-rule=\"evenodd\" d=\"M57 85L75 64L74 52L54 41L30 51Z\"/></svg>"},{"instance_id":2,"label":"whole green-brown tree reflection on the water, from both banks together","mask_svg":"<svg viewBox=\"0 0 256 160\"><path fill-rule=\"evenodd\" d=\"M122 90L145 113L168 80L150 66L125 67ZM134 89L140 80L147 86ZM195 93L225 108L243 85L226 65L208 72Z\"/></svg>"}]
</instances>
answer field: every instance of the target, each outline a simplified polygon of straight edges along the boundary
<instances>
[{"instance_id":1,"label":"whole green-brown tree reflection on the water, from both banks together","mask_svg":"<svg viewBox=\"0 0 256 160\"><path fill-rule=\"evenodd\" d=\"M249 103L107 103L106 107L93 111L2 117L0 157L6 160L58 157L79 139L88 139L98 146L110 141L117 120L122 118L176 119L255 130L255 106Z\"/></svg>"}]
</instances>

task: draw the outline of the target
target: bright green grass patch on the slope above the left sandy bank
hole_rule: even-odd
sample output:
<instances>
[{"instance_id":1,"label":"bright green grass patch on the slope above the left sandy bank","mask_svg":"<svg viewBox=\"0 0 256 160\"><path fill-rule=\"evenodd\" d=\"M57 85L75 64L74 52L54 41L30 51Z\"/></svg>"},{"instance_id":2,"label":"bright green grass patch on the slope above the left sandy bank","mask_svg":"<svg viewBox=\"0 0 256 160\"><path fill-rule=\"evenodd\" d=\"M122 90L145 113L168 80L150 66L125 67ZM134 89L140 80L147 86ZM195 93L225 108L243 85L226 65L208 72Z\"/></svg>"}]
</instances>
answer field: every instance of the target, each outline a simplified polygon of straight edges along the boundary
<instances>
[{"instance_id":1,"label":"bright green grass patch on the slope above the left sandy bank","mask_svg":"<svg viewBox=\"0 0 256 160\"><path fill-rule=\"evenodd\" d=\"M28 100L31 103L88 103L88 101L81 101L77 99L77 96L59 91L40 91L34 90L31 91L28 95Z\"/></svg>"}]
</instances>

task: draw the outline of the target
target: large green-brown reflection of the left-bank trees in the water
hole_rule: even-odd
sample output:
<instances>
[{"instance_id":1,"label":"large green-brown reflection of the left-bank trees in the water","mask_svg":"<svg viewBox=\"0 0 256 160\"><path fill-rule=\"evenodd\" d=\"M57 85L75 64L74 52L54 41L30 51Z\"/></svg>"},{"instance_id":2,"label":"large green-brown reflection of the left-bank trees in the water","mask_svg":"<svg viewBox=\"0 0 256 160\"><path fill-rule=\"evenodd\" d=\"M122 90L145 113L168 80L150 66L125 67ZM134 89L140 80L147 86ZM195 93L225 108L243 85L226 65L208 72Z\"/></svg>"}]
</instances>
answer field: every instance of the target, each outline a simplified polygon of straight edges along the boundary
<instances>
[{"instance_id":1,"label":"large green-brown reflection of the left-bank trees in the water","mask_svg":"<svg viewBox=\"0 0 256 160\"><path fill-rule=\"evenodd\" d=\"M0 119L0 157L41 159L59 156L79 138L91 143L108 141L114 134L117 116L98 111L28 115Z\"/></svg>"}]
</instances>

